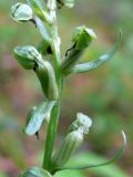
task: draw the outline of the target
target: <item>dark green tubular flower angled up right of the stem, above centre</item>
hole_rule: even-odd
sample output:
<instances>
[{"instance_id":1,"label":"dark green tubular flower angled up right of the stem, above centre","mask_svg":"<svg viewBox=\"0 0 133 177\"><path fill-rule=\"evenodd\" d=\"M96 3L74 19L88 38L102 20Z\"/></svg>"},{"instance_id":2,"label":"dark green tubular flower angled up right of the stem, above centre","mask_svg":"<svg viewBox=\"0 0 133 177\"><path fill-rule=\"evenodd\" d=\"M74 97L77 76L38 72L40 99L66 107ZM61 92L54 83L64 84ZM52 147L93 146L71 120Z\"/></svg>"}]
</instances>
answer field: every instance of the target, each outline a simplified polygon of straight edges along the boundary
<instances>
[{"instance_id":1,"label":"dark green tubular flower angled up right of the stem, above centre","mask_svg":"<svg viewBox=\"0 0 133 177\"><path fill-rule=\"evenodd\" d=\"M72 42L74 43L71 49L66 51L66 55L62 62L62 72L68 74L75 65L84 50L90 45L92 39L96 35L93 30L83 27L78 27L74 30Z\"/></svg>"}]
</instances>

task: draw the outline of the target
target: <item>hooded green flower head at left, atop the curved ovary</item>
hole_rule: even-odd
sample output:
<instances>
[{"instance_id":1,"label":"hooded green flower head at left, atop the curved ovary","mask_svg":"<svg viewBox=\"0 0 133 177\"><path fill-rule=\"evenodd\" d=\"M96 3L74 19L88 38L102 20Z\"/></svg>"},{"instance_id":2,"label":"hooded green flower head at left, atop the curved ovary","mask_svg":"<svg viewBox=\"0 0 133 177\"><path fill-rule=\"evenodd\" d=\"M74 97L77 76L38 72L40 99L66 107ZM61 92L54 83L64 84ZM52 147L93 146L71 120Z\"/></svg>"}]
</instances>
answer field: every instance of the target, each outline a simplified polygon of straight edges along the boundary
<instances>
[{"instance_id":1,"label":"hooded green flower head at left, atop the curved ovary","mask_svg":"<svg viewBox=\"0 0 133 177\"><path fill-rule=\"evenodd\" d=\"M34 46L17 46L14 48L14 56L18 62L25 69L31 70L35 65L37 60L41 60L40 53Z\"/></svg>"}]
</instances>

